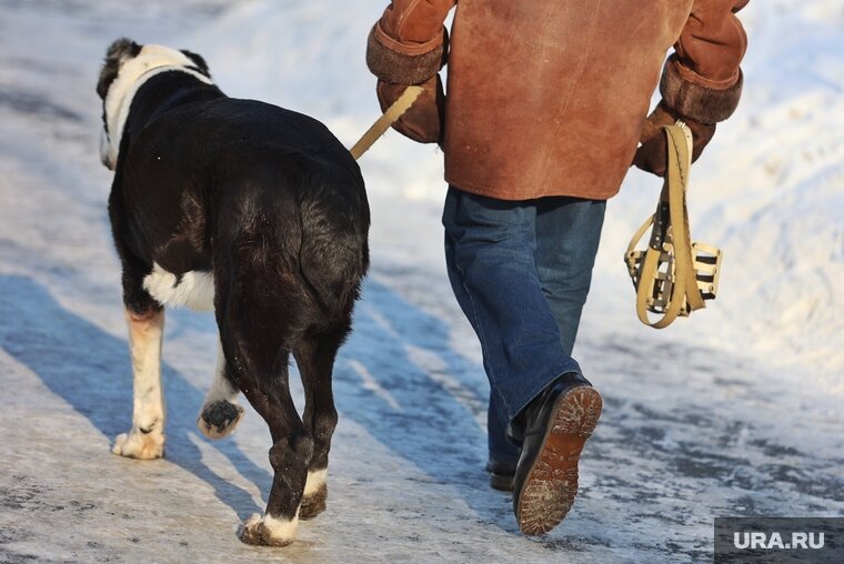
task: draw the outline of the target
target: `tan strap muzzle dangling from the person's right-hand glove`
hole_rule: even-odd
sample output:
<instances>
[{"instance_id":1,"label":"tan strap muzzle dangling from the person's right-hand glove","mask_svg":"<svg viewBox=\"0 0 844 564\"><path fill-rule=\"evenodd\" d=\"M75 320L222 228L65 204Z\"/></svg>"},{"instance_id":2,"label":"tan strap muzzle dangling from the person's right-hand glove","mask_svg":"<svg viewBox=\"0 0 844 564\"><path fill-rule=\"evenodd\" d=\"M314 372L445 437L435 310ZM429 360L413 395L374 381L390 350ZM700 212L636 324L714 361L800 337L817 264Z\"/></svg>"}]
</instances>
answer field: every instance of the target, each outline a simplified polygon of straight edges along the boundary
<instances>
[{"instance_id":1,"label":"tan strap muzzle dangling from the person's right-hand glove","mask_svg":"<svg viewBox=\"0 0 844 564\"><path fill-rule=\"evenodd\" d=\"M664 125L669 168L656 212L633 235L624 260L636 289L636 314L654 329L705 308L717 292L722 253L704 243L691 243L686 190L692 167L692 132L682 121ZM647 249L636 243L653 225ZM647 312L662 315L652 322Z\"/></svg>"}]
</instances>

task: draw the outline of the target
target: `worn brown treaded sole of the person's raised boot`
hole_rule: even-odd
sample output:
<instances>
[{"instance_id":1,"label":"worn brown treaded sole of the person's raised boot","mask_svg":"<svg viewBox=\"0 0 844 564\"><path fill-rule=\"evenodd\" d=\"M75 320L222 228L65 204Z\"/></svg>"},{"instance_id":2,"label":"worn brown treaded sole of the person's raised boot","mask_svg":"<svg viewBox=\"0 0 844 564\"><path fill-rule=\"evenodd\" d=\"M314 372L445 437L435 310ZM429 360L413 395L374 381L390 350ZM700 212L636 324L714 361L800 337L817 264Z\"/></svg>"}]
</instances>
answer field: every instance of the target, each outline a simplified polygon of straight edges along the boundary
<instances>
[{"instance_id":1,"label":"worn brown treaded sole of the person's raised boot","mask_svg":"<svg viewBox=\"0 0 844 564\"><path fill-rule=\"evenodd\" d=\"M570 390L557 399L539 455L522 485L516 507L524 534L540 535L559 525L577 495L577 462L601 416L603 401L593 387Z\"/></svg>"}]
</instances>

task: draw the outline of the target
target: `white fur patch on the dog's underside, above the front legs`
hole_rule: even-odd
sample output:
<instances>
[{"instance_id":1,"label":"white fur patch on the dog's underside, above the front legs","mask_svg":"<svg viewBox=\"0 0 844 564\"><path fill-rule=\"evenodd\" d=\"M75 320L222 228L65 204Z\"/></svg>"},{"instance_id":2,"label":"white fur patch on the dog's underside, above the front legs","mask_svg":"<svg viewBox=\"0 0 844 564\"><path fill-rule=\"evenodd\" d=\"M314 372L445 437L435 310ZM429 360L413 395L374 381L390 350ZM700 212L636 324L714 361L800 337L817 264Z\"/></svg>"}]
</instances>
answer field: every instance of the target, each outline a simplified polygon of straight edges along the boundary
<instances>
[{"instance_id":1,"label":"white fur patch on the dog's underside, above the front legs","mask_svg":"<svg viewBox=\"0 0 844 564\"><path fill-rule=\"evenodd\" d=\"M178 278L152 263L152 272L143 278L143 289L162 305L188 306L191 310L214 310L214 276L212 272L190 271Z\"/></svg>"}]
</instances>

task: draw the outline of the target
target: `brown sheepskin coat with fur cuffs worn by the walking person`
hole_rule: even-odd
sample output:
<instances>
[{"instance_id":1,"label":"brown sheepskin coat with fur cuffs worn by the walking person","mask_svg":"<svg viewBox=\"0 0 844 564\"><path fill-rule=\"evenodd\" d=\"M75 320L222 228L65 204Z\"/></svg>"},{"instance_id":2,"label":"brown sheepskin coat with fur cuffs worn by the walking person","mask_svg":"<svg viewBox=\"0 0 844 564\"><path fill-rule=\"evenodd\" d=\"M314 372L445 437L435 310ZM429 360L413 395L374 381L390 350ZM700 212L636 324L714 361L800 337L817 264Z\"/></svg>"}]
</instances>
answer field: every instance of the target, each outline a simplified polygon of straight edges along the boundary
<instances>
[{"instance_id":1,"label":"brown sheepskin coat with fur cuffs worn by the walking person","mask_svg":"<svg viewBox=\"0 0 844 564\"><path fill-rule=\"evenodd\" d=\"M368 64L383 82L416 84L448 60L451 184L503 200L606 199L657 85L690 120L733 112L746 47L734 12L747 1L393 0L370 36Z\"/></svg>"}]
</instances>

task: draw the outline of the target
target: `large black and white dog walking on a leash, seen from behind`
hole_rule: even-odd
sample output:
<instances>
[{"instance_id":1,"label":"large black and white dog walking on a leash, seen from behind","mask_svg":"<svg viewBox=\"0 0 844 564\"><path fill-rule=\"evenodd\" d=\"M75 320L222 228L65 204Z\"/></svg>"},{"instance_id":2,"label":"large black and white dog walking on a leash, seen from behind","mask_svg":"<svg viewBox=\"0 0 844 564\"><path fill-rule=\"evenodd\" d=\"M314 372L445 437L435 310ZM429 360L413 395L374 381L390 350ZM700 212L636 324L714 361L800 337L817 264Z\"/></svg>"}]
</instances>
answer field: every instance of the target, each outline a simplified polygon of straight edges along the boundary
<instances>
[{"instance_id":1,"label":"large black and white dog walking on a leash, seen from behind","mask_svg":"<svg viewBox=\"0 0 844 564\"><path fill-rule=\"evenodd\" d=\"M316 120L228 98L190 51L120 39L97 92L134 373L132 429L113 452L163 455L163 306L213 310L220 349L198 425L210 439L229 435L243 415L239 392L267 421L272 490L241 538L285 545L299 517L325 507L331 375L369 265L360 169Z\"/></svg>"}]
</instances>

